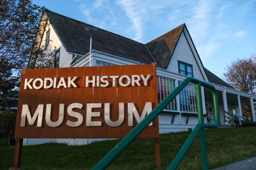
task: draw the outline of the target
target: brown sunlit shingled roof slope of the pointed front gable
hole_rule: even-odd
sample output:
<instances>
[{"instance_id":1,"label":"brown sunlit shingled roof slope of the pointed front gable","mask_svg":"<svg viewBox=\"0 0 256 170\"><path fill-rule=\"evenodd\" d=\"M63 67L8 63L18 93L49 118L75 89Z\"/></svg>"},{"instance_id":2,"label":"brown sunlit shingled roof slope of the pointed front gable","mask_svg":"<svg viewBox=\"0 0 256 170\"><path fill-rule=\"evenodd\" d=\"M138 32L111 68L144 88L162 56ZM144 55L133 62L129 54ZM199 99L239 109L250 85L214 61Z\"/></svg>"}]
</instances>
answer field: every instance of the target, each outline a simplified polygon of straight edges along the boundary
<instances>
[{"instance_id":1,"label":"brown sunlit shingled roof slope of the pointed front gable","mask_svg":"<svg viewBox=\"0 0 256 170\"><path fill-rule=\"evenodd\" d=\"M152 53L161 68L166 69L168 67L170 57L184 25L179 25L179 27L147 43L148 50Z\"/></svg>"}]
</instances>

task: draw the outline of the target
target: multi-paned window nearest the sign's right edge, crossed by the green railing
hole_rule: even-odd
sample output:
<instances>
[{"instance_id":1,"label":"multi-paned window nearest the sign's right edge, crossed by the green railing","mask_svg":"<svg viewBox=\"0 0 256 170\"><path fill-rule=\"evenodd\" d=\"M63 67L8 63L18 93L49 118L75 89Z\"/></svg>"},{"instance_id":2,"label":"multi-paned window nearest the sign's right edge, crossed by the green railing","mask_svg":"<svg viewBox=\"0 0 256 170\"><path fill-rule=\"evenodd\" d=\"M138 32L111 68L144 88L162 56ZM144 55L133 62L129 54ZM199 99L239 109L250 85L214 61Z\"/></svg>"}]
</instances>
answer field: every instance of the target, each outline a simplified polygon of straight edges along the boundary
<instances>
[{"instance_id":1,"label":"multi-paned window nearest the sign's right edge, crossed by the green railing","mask_svg":"<svg viewBox=\"0 0 256 170\"><path fill-rule=\"evenodd\" d=\"M158 103L161 103L175 89L175 80L157 76L157 98ZM167 111L177 111L176 97L164 108Z\"/></svg>"}]
</instances>

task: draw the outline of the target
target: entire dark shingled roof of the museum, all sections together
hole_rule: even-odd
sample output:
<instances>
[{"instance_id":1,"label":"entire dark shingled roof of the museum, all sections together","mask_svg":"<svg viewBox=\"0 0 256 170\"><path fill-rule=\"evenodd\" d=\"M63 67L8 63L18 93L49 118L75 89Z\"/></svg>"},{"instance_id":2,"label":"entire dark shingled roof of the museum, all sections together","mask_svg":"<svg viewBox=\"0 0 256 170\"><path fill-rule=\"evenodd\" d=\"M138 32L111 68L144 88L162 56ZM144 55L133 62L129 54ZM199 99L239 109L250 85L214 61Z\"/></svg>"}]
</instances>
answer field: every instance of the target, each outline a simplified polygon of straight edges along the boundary
<instances>
[{"instance_id":1,"label":"entire dark shingled roof of the museum, all sections together","mask_svg":"<svg viewBox=\"0 0 256 170\"><path fill-rule=\"evenodd\" d=\"M68 52L80 53L83 55L89 52L90 32L86 31L84 27L95 26L85 24L49 10L45 10L45 13L56 30L56 34L59 36L61 43L63 43ZM185 24L182 24L146 44L159 67L166 69L168 66L170 57L172 56L184 26ZM97 31L93 32L93 50L145 64L154 62L154 59L152 59L144 44L113 32L105 31L104 29L97 29ZM210 82L234 89L228 83L221 80L221 78L218 78L218 76L211 73L211 71L205 69L205 74Z\"/></svg>"}]
</instances>

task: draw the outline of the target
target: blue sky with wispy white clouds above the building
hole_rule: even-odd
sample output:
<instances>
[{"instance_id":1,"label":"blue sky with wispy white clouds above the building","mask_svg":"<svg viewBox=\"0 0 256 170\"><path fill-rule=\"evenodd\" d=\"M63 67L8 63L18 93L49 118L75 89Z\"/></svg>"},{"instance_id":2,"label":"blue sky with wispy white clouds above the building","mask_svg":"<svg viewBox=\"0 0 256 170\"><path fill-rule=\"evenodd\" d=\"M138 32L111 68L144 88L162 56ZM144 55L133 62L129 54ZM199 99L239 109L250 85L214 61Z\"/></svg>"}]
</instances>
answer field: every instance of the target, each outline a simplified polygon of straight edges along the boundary
<instances>
[{"instance_id":1,"label":"blue sky with wispy white clouds above the building","mask_svg":"<svg viewBox=\"0 0 256 170\"><path fill-rule=\"evenodd\" d=\"M204 66L222 77L237 57L256 53L256 0L33 0L141 43L186 23Z\"/></svg>"}]
</instances>

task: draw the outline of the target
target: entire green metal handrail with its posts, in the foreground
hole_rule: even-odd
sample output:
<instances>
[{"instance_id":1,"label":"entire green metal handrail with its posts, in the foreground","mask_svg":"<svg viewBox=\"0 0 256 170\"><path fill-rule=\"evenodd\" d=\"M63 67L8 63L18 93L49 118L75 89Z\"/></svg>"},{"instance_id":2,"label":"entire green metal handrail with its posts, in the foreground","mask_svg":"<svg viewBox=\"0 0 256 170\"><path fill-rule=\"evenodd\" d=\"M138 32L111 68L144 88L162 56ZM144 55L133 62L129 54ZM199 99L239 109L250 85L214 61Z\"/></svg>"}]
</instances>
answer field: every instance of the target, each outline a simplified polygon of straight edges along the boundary
<instances>
[{"instance_id":1,"label":"entire green metal handrail with its posts, in the foreground","mask_svg":"<svg viewBox=\"0 0 256 170\"><path fill-rule=\"evenodd\" d=\"M172 164L168 169L176 169L186 152L188 151L189 147L193 143L196 135L200 133L200 147L201 147L201 157L202 157L202 169L208 169L207 166L207 150L206 150L206 142L205 142L205 128L214 128L218 127L220 124L220 115L219 115L219 108L218 108L218 94L216 89L211 84L197 80L196 78L186 78L184 81L180 83L178 87L176 87L171 94L169 94L161 103L154 108L150 112L150 114L145 117L140 124L136 125L134 129L132 129L125 138L123 138L116 146L109 151L92 169L105 169L106 167L115 160L115 158L122 153L122 151L154 120L154 118L164 110L164 108L174 99L179 92L186 87L186 85L191 82L196 84L196 104L198 108L198 124L196 124L195 128L189 135L188 139L180 148L179 153L177 153L175 159L173 159ZM214 107L214 117L215 122L214 124L205 124L204 123L204 113L203 113L203 106L202 106L202 95L201 95L201 86L207 87L212 91L212 99L213 99L213 107Z\"/></svg>"}]
</instances>

